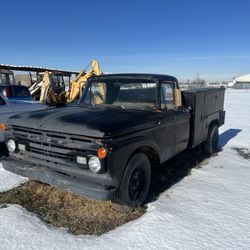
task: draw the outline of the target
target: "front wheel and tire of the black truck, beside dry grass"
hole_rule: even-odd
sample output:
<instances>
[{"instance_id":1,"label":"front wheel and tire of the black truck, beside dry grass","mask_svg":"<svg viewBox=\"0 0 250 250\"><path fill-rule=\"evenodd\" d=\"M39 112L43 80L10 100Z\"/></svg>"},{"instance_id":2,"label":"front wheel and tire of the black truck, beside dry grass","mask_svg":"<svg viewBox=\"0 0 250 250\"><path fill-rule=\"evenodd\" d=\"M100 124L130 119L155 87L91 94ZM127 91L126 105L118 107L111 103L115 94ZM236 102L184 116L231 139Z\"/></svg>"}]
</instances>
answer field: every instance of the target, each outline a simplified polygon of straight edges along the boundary
<instances>
[{"instance_id":1,"label":"front wheel and tire of the black truck, beside dry grass","mask_svg":"<svg viewBox=\"0 0 250 250\"><path fill-rule=\"evenodd\" d=\"M142 205L148 195L151 166L143 153L135 154L128 162L113 200L115 210L128 212Z\"/></svg>"}]
</instances>

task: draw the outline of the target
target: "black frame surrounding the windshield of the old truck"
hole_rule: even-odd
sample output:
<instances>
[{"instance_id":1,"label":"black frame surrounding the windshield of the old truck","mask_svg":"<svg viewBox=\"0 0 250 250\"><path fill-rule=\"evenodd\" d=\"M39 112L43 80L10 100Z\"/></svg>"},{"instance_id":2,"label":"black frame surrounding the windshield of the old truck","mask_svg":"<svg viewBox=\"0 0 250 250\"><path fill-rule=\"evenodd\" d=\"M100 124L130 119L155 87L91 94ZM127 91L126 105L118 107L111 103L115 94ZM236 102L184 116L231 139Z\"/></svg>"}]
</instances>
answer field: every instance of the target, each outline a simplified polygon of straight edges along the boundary
<instances>
[{"instance_id":1,"label":"black frame surrounding the windshield of the old truck","mask_svg":"<svg viewBox=\"0 0 250 250\"><path fill-rule=\"evenodd\" d=\"M83 94L81 96L81 98L79 99L78 101L78 105L80 106L107 106L107 105L110 105L112 106L112 104L98 104L98 105L91 105L91 104L86 104L84 103L84 100L85 98L87 97L87 94L88 94L88 90L89 90L89 87L92 83L99 83L99 82L104 82L106 84L108 84L108 81L112 81L112 80L131 80L131 83L133 81L150 81L150 83L155 83L156 84L156 87L155 87L155 109L158 109L159 108L159 80L156 79L156 78L152 78L152 77L142 77L142 76L122 76L122 77L105 77L105 76L101 76L101 77L95 77L95 78L90 78L88 79L85 87L84 87L84 91L83 91ZM136 110L144 110L144 109L141 109L141 108L138 108L135 106L135 108L128 108L126 107L126 109L136 109ZM145 109L146 110L146 109ZM153 109L152 109L153 111Z\"/></svg>"}]
</instances>

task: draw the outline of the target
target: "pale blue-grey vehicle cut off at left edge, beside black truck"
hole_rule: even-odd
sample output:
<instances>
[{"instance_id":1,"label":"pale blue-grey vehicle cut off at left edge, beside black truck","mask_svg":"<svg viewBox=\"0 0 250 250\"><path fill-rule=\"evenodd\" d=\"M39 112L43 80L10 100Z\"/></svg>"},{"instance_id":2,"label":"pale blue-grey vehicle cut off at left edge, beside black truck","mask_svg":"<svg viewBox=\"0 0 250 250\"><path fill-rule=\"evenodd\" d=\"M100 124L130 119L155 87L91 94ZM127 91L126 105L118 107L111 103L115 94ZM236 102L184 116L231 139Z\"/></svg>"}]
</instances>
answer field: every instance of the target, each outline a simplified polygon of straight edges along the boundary
<instances>
[{"instance_id":1,"label":"pale blue-grey vehicle cut off at left edge, beside black truck","mask_svg":"<svg viewBox=\"0 0 250 250\"><path fill-rule=\"evenodd\" d=\"M26 111L48 109L47 105L33 101L10 101L0 93L0 124L6 123L12 115ZM0 129L0 142L4 141L4 133Z\"/></svg>"}]
</instances>

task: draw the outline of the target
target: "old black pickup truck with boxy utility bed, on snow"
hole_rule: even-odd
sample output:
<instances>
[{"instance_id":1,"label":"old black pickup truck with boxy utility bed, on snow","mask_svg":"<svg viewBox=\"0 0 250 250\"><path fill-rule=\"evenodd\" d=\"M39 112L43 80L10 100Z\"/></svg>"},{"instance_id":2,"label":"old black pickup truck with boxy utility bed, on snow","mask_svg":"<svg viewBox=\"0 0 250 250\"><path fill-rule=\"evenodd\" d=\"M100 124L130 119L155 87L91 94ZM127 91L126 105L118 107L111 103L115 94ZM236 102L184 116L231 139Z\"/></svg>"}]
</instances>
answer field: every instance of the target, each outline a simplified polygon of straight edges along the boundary
<instances>
[{"instance_id":1,"label":"old black pickup truck with boxy utility bed, on snow","mask_svg":"<svg viewBox=\"0 0 250 250\"><path fill-rule=\"evenodd\" d=\"M88 80L78 105L8 121L4 168L121 206L142 204L151 171L187 148L218 147L224 88L180 91L175 77L110 74Z\"/></svg>"}]
</instances>

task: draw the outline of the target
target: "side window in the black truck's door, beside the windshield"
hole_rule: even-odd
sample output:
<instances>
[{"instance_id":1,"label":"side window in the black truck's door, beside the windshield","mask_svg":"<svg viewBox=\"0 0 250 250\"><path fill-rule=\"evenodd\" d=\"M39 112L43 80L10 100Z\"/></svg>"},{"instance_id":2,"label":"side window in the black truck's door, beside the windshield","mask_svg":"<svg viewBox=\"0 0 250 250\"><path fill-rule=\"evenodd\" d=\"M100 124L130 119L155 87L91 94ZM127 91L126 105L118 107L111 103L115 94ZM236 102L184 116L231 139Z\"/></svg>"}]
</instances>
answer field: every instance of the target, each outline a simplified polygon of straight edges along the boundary
<instances>
[{"instance_id":1,"label":"side window in the black truck's door, beside the windshield","mask_svg":"<svg viewBox=\"0 0 250 250\"><path fill-rule=\"evenodd\" d=\"M161 84L161 108L162 109L175 109L174 84L172 83Z\"/></svg>"}]
</instances>

